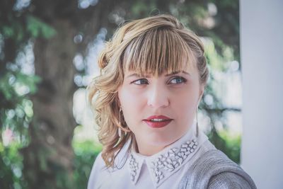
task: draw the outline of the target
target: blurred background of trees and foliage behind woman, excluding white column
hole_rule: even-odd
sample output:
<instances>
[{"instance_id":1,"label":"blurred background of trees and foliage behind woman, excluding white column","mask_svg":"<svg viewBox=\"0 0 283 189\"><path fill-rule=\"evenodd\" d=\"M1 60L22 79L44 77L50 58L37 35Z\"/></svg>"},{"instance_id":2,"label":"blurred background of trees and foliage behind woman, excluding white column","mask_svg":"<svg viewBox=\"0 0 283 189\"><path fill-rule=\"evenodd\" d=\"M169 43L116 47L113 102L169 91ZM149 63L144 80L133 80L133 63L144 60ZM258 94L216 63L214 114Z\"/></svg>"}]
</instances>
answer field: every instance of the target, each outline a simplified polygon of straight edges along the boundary
<instances>
[{"instance_id":1,"label":"blurred background of trees and foliage behind woman, excluding white column","mask_svg":"<svg viewBox=\"0 0 283 189\"><path fill-rule=\"evenodd\" d=\"M86 188L101 145L86 86L117 27L170 13L200 35L209 84L199 125L241 162L237 0L1 0L0 188Z\"/></svg>"}]
</instances>

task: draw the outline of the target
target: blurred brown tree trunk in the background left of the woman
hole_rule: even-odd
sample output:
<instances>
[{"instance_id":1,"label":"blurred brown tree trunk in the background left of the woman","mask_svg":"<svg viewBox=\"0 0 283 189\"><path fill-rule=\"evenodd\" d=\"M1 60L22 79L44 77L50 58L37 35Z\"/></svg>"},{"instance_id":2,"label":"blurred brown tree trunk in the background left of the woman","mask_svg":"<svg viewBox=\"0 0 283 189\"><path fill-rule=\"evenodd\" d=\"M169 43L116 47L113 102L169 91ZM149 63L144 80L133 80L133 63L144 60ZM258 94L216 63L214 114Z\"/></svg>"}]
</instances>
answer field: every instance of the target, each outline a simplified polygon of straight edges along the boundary
<instances>
[{"instance_id":1,"label":"blurred brown tree trunk in the background left of the woman","mask_svg":"<svg viewBox=\"0 0 283 189\"><path fill-rule=\"evenodd\" d=\"M23 171L30 188L71 188L73 180L71 139L76 126L72 113L76 70L72 62L76 30L67 20L57 19L52 26L57 34L49 40L37 39L34 46L35 74L42 81L33 97L31 142L23 149Z\"/></svg>"}]
</instances>

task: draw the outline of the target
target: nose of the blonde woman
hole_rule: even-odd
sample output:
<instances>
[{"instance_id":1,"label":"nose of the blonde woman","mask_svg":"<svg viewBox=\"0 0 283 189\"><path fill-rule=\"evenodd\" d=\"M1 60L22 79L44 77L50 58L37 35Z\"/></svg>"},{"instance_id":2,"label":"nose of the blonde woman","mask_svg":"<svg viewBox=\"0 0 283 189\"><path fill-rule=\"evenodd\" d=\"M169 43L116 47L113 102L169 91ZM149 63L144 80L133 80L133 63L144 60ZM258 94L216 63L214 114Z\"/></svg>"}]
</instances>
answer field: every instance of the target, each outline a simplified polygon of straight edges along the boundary
<instances>
[{"instance_id":1,"label":"nose of the blonde woman","mask_svg":"<svg viewBox=\"0 0 283 189\"><path fill-rule=\"evenodd\" d=\"M151 86L148 91L147 105L151 108L166 108L170 104L169 94L164 86Z\"/></svg>"}]
</instances>

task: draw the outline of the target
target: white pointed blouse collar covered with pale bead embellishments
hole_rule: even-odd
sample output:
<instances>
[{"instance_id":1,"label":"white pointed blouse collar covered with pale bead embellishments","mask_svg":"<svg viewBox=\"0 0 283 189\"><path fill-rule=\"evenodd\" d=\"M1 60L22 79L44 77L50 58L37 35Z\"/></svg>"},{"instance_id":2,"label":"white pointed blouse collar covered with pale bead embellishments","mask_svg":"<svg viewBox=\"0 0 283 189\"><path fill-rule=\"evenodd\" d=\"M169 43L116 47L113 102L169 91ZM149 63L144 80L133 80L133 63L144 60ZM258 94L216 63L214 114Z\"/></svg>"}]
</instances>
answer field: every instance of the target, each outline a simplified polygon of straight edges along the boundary
<instances>
[{"instance_id":1,"label":"white pointed blouse collar covered with pale bead embellishments","mask_svg":"<svg viewBox=\"0 0 283 189\"><path fill-rule=\"evenodd\" d=\"M196 124L192 125L187 133L173 144L159 151L152 156L143 156L132 150L127 161L131 181L136 184L141 173L141 166L146 164L149 169L151 181L155 187L161 185L168 177L178 171L193 154L200 148L200 145L207 140L207 136L199 132L196 136Z\"/></svg>"}]
</instances>

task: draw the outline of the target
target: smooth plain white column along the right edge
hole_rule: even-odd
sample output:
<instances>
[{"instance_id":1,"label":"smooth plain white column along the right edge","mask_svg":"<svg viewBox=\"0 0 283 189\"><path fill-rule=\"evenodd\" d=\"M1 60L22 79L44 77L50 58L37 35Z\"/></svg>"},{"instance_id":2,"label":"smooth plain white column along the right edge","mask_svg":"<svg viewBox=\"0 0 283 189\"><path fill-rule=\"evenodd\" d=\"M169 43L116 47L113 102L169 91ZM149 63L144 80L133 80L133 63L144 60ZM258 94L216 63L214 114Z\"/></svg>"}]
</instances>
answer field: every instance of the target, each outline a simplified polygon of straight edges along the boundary
<instances>
[{"instance_id":1,"label":"smooth plain white column along the right edge","mask_svg":"<svg viewBox=\"0 0 283 189\"><path fill-rule=\"evenodd\" d=\"M240 1L241 166L258 188L283 188L283 1Z\"/></svg>"}]
</instances>

